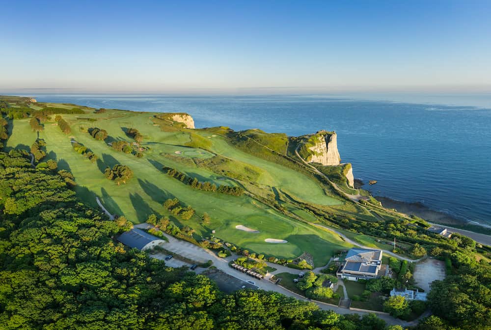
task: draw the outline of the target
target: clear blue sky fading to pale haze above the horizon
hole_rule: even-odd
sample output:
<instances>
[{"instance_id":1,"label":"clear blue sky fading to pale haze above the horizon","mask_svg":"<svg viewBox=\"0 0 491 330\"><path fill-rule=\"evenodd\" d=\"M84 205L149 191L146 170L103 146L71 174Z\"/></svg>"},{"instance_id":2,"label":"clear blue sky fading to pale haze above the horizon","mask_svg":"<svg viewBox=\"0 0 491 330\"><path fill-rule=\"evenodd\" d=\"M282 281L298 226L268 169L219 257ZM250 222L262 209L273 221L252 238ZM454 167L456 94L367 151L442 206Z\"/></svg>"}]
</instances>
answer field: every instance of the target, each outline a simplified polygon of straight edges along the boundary
<instances>
[{"instance_id":1,"label":"clear blue sky fading to pale haze above the horizon","mask_svg":"<svg viewBox=\"0 0 491 330\"><path fill-rule=\"evenodd\" d=\"M491 91L489 0L0 8L0 93Z\"/></svg>"}]
</instances>

